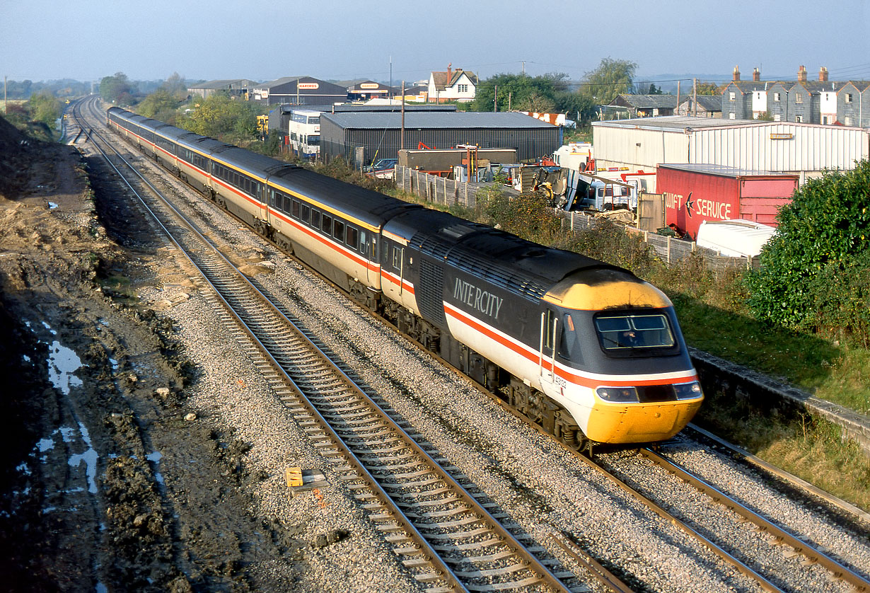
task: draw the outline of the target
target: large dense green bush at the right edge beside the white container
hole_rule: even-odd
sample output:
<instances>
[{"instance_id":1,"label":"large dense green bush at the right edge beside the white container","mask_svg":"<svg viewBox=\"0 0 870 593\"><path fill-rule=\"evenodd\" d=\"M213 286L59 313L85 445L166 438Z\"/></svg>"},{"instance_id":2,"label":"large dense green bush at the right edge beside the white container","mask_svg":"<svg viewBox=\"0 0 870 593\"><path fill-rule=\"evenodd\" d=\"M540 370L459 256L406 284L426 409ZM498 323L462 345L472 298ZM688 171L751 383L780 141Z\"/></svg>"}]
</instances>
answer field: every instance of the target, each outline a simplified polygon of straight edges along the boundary
<instances>
[{"instance_id":1,"label":"large dense green bush at the right edge beside the white container","mask_svg":"<svg viewBox=\"0 0 870 593\"><path fill-rule=\"evenodd\" d=\"M827 171L794 192L747 280L761 320L851 334L870 328L870 162Z\"/></svg>"}]
</instances>

